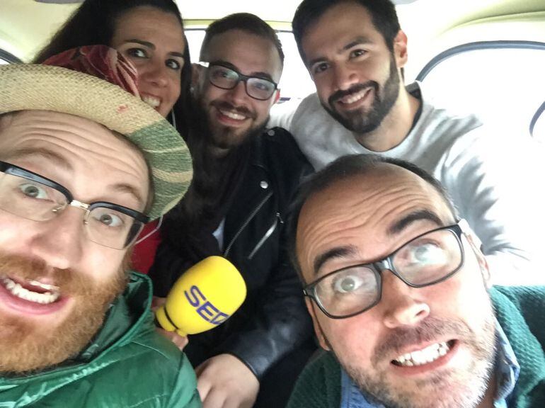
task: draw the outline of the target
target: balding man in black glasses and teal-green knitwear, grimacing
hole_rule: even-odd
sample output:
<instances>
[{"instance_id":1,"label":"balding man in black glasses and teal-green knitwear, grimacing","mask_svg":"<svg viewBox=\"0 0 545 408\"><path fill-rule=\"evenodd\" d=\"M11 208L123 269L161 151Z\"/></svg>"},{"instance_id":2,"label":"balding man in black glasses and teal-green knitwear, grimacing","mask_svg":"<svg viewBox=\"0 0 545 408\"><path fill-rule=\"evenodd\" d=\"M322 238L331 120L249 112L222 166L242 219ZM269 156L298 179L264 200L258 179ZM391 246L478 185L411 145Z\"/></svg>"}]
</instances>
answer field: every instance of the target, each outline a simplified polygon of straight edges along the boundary
<instances>
[{"instance_id":1,"label":"balding man in black glasses and teal-green knitwear, grimacing","mask_svg":"<svg viewBox=\"0 0 545 408\"><path fill-rule=\"evenodd\" d=\"M289 239L325 350L289 408L545 407L545 288L490 288L425 171L338 159L300 188Z\"/></svg>"}]
</instances>

